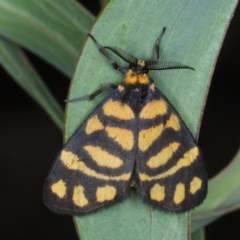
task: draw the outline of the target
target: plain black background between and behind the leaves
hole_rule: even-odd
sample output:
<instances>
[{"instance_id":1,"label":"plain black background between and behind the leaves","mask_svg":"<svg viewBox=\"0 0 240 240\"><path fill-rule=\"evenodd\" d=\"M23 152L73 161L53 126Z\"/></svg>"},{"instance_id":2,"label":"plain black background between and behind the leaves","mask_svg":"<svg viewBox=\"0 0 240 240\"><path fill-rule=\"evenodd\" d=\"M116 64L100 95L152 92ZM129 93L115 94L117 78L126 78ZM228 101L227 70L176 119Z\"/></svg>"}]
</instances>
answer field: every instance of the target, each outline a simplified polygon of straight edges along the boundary
<instances>
[{"instance_id":1,"label":"plain black background between and behind the leaves","mask_svg":"<svg viewBox=\"0 0 240 240\"><path fill-rule=\"evenodd\" d=\"M94 14L98 13L100 7L95 1L93 6L91 1L83 2ZM240 142L239 10L238 7L218 59L200 132L199 144L210 177L229 163ZM69 80L41 59L27 54L63 103ZM0 74L0 238L77 239L72 218L51 213L42 202L43 182L61 149L62 132L1 68ZM209 225L207 239L239 239L239 227L237 211Z\"/></svg>"}]
</instances>

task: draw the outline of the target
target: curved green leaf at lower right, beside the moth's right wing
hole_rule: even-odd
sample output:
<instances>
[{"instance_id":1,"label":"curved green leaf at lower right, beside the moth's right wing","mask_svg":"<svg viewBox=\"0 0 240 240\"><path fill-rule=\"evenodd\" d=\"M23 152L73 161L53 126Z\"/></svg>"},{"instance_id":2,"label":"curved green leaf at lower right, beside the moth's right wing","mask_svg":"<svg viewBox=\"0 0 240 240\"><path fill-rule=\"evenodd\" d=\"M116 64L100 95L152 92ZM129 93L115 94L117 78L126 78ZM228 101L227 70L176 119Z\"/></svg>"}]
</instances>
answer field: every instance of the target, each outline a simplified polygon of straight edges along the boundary
<instances>
[{"instance_id":1,"label":"curved green leaf at lower right, beside the moth's right wing","mask_svg":"<svg viewBox=\"0 0 240 240\"><path fill-rule=\"evenodd\" d=\"M240 208L239 172L240 150L234 160L209 182L207 199L193 212L193 232Z\"/></svg>"}]
</instances>

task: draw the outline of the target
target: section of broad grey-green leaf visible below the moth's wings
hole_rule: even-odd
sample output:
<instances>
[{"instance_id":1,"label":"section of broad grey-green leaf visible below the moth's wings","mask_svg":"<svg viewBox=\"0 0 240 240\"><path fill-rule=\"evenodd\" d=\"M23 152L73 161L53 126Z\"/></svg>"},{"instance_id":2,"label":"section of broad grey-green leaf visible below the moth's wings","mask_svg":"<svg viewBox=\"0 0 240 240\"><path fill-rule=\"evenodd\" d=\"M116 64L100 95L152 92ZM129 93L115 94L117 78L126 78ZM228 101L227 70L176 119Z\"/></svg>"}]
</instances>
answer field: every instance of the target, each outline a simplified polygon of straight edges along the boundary
<instances>
[{"instance_id":1,"label":"section of broad grey-green leaf visible below the moth's wings","mask_svg":"<svg viewBox=\"0 0 240 240\"><path fill-rule=\"evenodd\" d=\"M96 215L84 216L84 219L75 218L75 223L80 239L185 240L185 219L185 214L162 214L143 205L139 195L132 192L129 199L121 204L106 208Z\"/></svg>"}]
</instances>

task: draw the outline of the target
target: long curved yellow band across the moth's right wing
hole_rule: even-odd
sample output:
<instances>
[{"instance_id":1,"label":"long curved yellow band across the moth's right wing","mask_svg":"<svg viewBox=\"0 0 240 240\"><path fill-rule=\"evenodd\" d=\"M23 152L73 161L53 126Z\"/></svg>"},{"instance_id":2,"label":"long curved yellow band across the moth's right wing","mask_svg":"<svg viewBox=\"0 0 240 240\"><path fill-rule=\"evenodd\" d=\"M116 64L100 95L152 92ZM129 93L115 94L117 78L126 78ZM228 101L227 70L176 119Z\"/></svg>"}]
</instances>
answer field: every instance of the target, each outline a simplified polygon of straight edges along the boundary
<instances>
[{"instance_id":1,"label":"long curved yellow band across the moth's right wing","mask_svg":"<svg viewBox=\"0 0 240 240\"><path fill-rule=\"evenodd\" d=\"M199 150L197 147L193 147L190 150L188 150L182 158L178 160L178 162L168 169L167 171L160 173L155 176L148 176L145 173L140 173L139 177L141 181L153 181L153 180L159 180L162 178L166 178L169 176L172 176L177 171L179 171L182 168L189 167L191 164L197 159L199 154Z\"/></svg>"}]
</instances>

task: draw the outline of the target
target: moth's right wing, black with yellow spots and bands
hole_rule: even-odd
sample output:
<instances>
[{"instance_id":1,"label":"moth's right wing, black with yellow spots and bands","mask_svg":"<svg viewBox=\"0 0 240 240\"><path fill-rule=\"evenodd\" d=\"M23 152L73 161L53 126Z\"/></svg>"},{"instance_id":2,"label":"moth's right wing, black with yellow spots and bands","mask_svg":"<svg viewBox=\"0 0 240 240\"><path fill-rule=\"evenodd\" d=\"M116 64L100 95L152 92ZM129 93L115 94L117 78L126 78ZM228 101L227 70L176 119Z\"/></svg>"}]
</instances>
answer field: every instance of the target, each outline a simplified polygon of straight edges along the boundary
<instances>
[{"instance_id":1,"label":"moth's right wing, black with yellow spots and bands","mask_svg":"<svg viewBox=\"0 0 240 240\"><path fill-rule=\"evenodd\" d=\"M207 194L207 173L192 134L174 107L155 89L139 114L136 156L138 191L145 202L188 211Z\"/></svg>"}]
</instances>

